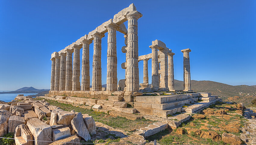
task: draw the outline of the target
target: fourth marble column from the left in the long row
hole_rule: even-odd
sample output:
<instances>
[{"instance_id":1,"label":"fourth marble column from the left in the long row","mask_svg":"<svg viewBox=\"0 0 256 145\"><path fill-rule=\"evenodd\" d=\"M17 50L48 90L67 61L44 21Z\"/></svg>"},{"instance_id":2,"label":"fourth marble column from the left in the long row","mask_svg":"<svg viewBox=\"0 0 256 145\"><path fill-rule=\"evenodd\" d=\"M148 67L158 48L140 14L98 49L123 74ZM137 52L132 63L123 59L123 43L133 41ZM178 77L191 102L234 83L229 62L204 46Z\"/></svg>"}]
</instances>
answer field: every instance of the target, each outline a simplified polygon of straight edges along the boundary
<instances>
[{"instance_id":1,"label":"fourth marble column from the left in the long row","mask_svg":"<svg viewBox=\"0 0 256 145\"><path fill-rule=\"evenodd\" d=\"M65 91L72 90L72 49L66 49L65 52L67 53L66 58L66 83L65 83Z\"/></svg>"}]
</instances>

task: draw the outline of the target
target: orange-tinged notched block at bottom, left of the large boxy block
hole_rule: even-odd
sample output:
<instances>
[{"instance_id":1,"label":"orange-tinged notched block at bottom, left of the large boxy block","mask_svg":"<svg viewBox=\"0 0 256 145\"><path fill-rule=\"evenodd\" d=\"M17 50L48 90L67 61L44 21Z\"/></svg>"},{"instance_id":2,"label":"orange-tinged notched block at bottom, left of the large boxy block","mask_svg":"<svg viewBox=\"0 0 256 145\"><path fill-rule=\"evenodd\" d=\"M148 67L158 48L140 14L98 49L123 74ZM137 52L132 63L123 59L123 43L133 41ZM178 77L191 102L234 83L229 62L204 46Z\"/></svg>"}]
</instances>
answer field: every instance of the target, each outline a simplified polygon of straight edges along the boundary
<instances>
[{"instance_id":1,"label":"orange-tinged notched block at bottom, left of the large boxy block","mask_svg":"<svg viewBox=\"0 0 256 145\"><path fill-rule=\"evenodd\" d=\"M29 141L33 140L33 136L27 128L27 125L18 125L15 129L14 138L16 139L16 145L33 145L33 141Z\"/></svg>"}]
</instances>

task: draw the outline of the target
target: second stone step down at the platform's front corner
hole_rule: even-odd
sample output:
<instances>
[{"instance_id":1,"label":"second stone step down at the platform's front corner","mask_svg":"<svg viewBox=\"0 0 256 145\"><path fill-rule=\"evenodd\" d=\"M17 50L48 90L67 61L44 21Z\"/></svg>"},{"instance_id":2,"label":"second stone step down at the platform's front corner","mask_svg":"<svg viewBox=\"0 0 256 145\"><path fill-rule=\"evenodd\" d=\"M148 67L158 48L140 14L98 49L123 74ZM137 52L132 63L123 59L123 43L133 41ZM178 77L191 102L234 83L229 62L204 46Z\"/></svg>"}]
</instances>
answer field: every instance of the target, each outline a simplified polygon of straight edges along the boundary
<instances>
[{"instance_id":1,"label":"second stone step down at the platform's front corner","mask_svg":"<svg viewBox=\"0 0 256 145\"><path fill-rule=\"evenodd\" d=\"M172 102L167 102L164 104L160 103L148 103L148 102L134 102L134 107L143 107L143 108L152 108L152 109L168 109L175 106L180 106L183 104L189 104L192 100L191 99L183 99L183 100L177 100Z\"/></svg>"}]
</instances>

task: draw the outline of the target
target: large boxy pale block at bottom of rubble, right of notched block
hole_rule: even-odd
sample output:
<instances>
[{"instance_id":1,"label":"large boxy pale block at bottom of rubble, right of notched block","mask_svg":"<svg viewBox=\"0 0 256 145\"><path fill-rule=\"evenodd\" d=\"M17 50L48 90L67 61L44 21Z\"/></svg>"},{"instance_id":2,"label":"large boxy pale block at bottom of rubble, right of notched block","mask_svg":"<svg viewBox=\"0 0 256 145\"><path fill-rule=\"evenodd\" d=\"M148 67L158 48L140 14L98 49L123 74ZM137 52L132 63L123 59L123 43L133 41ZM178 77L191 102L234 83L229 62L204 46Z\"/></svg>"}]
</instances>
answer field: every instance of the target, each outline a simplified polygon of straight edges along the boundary
<instances>
[{"instance_id":1,"label":"large boxy pale block at bottom of rubble, right of notched block","mask_svg":"<svg viewBox=\"0 0 256 145\"><path fill-rule=\"evenodd\" d=\"M27 127L33 135L34 145L48 145L49 142L39 142L37 140L52 141L52 127L40 121L38 118L31 118L27 122Z\"/></svg>"}]
</instances>

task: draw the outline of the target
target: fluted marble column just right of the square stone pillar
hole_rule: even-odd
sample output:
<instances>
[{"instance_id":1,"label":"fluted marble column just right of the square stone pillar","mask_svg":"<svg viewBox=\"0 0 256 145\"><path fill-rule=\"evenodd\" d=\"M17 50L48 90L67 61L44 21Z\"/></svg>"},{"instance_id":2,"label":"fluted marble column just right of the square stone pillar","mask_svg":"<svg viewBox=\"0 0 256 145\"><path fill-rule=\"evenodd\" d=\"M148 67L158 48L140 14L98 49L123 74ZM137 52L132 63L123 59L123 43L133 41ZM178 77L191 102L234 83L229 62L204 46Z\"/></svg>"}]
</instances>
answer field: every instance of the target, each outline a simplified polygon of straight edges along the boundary
<instances>
[{"instance_id":1,"label":"fluted marble column just right of the square stone pillar","mask_svg":"<svg viewBox=\"0 0 256 145\"><path fill-rule=\"evenodd\" d=\"M173 55L175 53L168 53L168 88L169 91L174 90L174 72L173 72Z\"/></svg>"}]
</instances>

